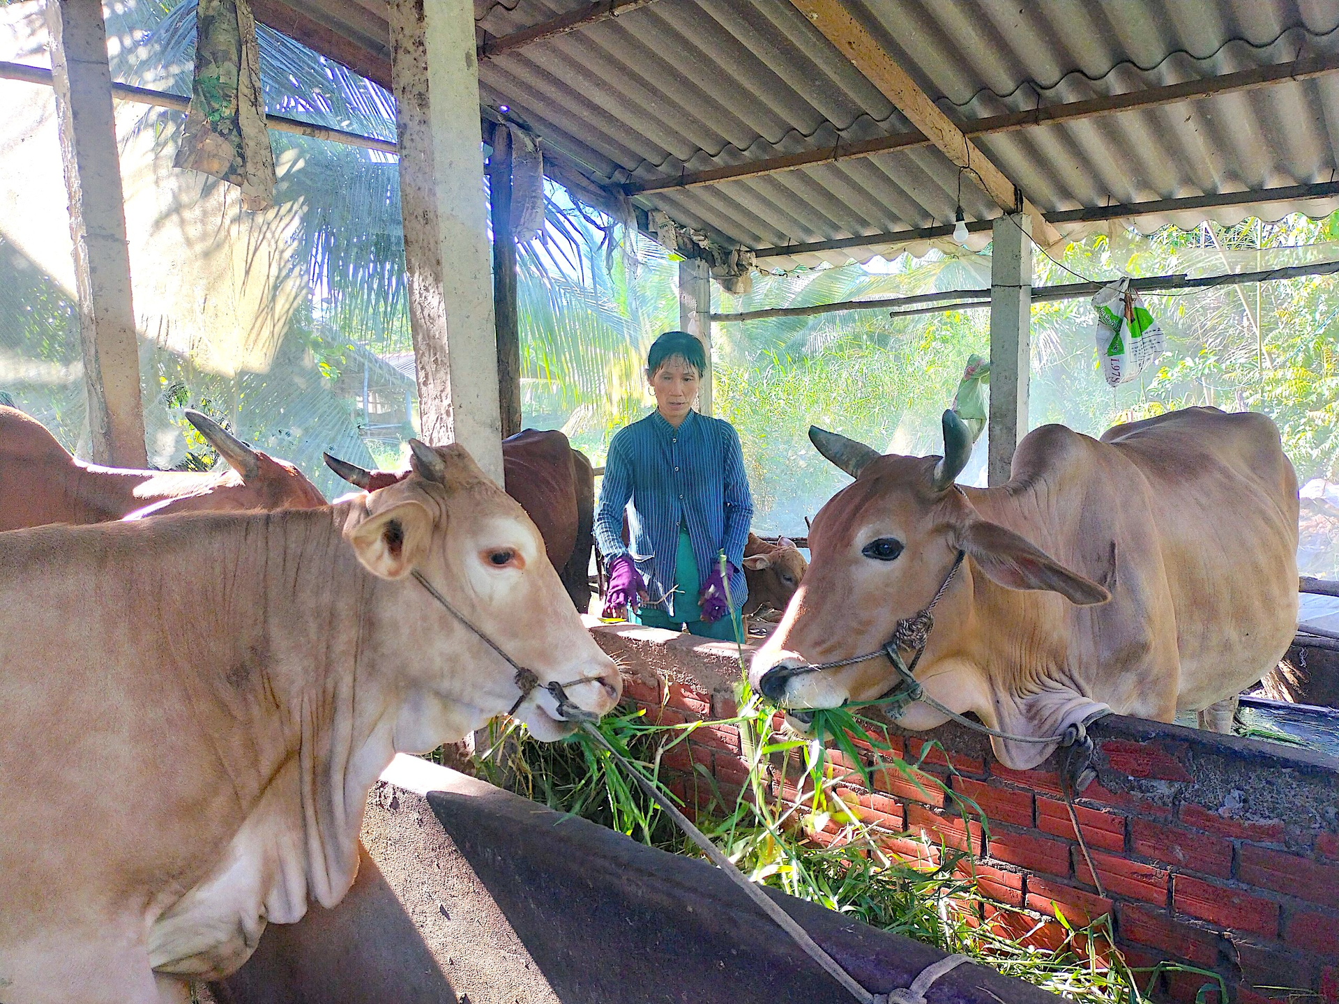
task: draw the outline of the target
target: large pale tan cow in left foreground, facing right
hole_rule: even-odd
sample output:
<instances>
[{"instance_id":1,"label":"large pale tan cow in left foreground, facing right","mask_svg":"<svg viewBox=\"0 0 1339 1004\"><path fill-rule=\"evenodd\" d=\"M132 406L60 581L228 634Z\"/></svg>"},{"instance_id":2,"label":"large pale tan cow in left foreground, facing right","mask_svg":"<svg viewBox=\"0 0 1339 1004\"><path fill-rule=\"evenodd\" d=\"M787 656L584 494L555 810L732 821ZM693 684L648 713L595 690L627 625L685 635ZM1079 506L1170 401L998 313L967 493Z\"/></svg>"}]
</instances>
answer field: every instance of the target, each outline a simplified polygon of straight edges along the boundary
<instances>
[{"instance_id":1,"label":"large pale tan cow in left foreground, facing right","mask_svg":"<svg viewBox=\"0 0 1339 1004\"><path fill-rule=\"evenodd\" d=\"M4 1000L185 1001L340 901L396 752L616 704L524 510L462 447L411 448L321 509L5 534Z\"/></svg>"}]
</instances>

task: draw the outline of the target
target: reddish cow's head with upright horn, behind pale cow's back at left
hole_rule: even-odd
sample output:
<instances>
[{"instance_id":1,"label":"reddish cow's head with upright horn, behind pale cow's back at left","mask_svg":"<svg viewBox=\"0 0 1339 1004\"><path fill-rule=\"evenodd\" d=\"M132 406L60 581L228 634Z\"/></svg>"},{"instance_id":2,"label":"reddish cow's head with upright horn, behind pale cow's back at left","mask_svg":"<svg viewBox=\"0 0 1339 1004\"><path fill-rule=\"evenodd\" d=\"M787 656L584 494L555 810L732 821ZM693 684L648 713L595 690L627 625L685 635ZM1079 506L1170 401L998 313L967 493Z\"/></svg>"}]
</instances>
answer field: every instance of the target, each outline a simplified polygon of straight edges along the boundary
<instances>
[{"instance_id":1,"label":"reddish cow's head with upright horn, behind pale cow's back at left","mask_svg":"<svg viewBox=\"0 0 1339 1004\"><path fill-rule=\"evenodd\" d=\"M316 509L325 497L288 461L254 450L208 415L190 408L186 420L205 438L228 465L213 481L205 475L182 477L163 473L147 479L137 494L154 499L127 519L167 513L228 513L273 509Z\"/></svg>"}]
</instances>

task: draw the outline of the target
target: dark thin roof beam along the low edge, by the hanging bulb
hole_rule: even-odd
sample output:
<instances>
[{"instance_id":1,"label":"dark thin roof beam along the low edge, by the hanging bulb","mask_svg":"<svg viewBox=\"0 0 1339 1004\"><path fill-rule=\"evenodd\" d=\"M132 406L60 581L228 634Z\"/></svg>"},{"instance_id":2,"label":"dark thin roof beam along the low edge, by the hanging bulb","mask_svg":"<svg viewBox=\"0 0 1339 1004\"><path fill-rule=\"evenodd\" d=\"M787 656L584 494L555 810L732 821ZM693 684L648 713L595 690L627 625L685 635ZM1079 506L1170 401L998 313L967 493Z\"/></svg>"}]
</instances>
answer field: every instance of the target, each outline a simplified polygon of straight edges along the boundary
<instances>
[{"instance_id":1,"label":"dark thin roof beam along the low edge, by the hanging bulb","mask_svg":"<svg viewBox=\"0 0 1339 1004\"><path fill-rule=\"evenodd\" d=\"M1129 220L1141 216L1162 213L1186 213L1196 209L1221 209L1225 206L1268 205L1271 202L1304 202L1311 198L1339 197L1339 181L1324 181L1316 185L1287 185L1277 189L1256 189L1253 191L1220 191L1210 195L1188 195L1185 198L1158 198L1149 202L1121 202L1113 206L1090 206L1087 209L1062 209L1047 213L1052 224L1091 224L1103 220ZM968 232L990 230L991 220L973 220ZM915 230L889 230L888 233L866 234L864 237L838 237L832 241L810 241L777 248L758 248L757 258L786 258L794 254L817 254L856 248L876 248L885 244L911 244L936 237L948 237L952 226L921 226Z\"/></svg>"}]
</instances>

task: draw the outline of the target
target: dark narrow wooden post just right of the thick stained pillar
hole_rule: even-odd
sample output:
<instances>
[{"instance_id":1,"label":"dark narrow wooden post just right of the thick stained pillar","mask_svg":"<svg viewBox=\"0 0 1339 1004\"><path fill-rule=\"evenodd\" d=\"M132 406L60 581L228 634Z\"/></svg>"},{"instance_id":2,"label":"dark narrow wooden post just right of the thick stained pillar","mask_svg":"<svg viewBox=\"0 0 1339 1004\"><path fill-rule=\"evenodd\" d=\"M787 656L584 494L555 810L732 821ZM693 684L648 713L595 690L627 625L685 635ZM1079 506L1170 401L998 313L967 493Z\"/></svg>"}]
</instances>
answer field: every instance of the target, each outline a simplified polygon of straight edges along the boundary
<instances>
[{"instance_id":1,"label":"dark narrow wooden post just right of the thick stained pillar","mask_svg":"<svg viewBox=\"0 0 1339 1004\"><path fill-rule=\"evenodd\" d=\"M498 340L498 412L502 438L521 431L521 328L517 317L516 238L511 233L511 134L493 127L489 158L493 218L493 321Z\"/></svg>"}]
</instances>

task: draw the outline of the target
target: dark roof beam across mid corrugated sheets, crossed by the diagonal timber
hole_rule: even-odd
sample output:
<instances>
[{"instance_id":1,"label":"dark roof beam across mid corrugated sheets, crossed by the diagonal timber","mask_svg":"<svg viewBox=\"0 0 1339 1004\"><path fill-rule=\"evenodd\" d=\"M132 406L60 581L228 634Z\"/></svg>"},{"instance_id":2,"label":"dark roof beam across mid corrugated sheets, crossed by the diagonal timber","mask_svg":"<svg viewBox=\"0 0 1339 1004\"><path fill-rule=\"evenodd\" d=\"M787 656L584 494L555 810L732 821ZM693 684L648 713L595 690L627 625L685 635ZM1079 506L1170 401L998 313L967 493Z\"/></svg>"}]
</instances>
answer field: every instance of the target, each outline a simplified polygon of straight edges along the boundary
<instances>
[{"instance_id":1,"label":"dark roof beam across mid corrugated sheets, crossed by the diagonal timber","mask_svg":"<svg viewBox=\"0 0 1339 1004\"><path fill-rule=\"evenodd\" d=\"M1091 98L1082 102L1066 102L1063 104L1050 104L1027 111L1011 111L1004 115L991 115L963 124L963 135L968 138L1012 133L1014 130L1031 126L1046 126L1056 122L1074 122L1090 119L1101 115L1111 115L1122 111L1135 111L1139 108L1156 108L1165 104L1176 104L1200 98L1210 98L1221 94L1233 94L1272 84L1288 83L1289 80L1308 80L1339 71L1339 54L1316 56L1314 59L1297 59L1291 63L1272 63L1269 66L1240 70L1235 74L1223 74L1198 80L1185 80L1182 83L1166 84L1162 87L1149 87L1142 91L1129 91L1126 94L1113 94L1103 98ZM728 167L710 167L702 171L686 171L676 175L660 178L644 178L624 185L624 191L629 195L652 194L656 191L672 191L675 189L691 189L699 185L719 185L726 181L739 181L743 178L758 178L778 171L790 171L797 167L809 167L817 163L832 163L836 161L849 161L858 157L873 157L893 150L911 150L920 146L929 146L929 139L920 130L909 133L894 133L873 139L861 139L854 143L838 142L836 146L821 150L803 150L795 154L769 157L750 163L731 165Z\"/></svg>"}]
</instances>

